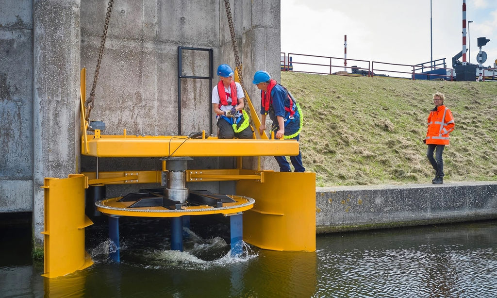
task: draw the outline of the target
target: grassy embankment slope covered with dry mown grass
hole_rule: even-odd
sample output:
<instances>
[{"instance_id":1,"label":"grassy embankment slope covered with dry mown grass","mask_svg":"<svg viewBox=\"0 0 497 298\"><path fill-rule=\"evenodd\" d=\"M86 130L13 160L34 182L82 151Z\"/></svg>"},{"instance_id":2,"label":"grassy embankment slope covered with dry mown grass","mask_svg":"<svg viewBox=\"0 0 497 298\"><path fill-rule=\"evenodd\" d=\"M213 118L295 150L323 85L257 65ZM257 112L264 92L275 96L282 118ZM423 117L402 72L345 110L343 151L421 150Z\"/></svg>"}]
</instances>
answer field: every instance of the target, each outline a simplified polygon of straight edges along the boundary
<instances>
[{"instance_id":1,"label":"grassy embankment slope covered with dry mown grass","mask_svg":"<svg viewBox=\"0 0 497 298\"><path fill-rule=\"evenodd\" d=\"M456 123L446 182L497 180L497 83L281 73L304 114L300 147L317 186L431 183L426 118L445 94Z\"/></svg>"}]
</instances>

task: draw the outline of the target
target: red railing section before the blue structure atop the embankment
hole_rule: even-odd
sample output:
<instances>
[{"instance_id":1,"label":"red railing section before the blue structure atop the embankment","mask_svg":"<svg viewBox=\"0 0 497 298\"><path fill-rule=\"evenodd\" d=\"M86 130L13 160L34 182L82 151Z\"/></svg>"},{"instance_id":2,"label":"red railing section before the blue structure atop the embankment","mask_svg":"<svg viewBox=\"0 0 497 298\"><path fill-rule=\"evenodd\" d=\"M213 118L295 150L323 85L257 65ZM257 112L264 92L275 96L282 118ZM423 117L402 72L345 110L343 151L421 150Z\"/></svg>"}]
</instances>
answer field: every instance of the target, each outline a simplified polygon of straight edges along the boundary
<instances>
[{"instance_id":1,"label":"red railing section before the blue structure atop the embankment","mask_svg":"<svg viewBox=\"0 0 497 298\"><path fill-rule=\"evenodd\" d=\"M398 67L398 70L385 70L385 69L379 69L379 68L376 68L375 69L375 64L376 65L389 65L389 66L396 66ZM426 76L426 79L431 79L430 77L431 76L435 76L435 78L437 77L441 77L443 79L448 79L450 77L450 80L453 80L454 79L454 72L452 71L451 68L444 68L444 67L434 67L434 66L430 66L429 67L431 69L430 72L426 72L426 73L423 73L422 70L424 69L424 67L420 67L419 65L409 65L409 64L397 64L397 63L387 63L387 62L379 62L379 61L372 61L371 62L371 73L372 75L379 75L379 74L375 74L374 72L385 72L385 73L394 73L394 74L410 74L411 76L411 79L415 80L416 79L416 76L417 78L419 78L419 76ZM421 72L416 72L416 71L419 71L421 70ZM445 74L441 74L440 72L444 72L442 71L444 70L445 71ZM450 74L447 74L449 72L447 71L450 71ZM398 76L398 77L401 77L401 76ZM409 78L409 76L407 76Z\"/></svg>"}]
</instances>

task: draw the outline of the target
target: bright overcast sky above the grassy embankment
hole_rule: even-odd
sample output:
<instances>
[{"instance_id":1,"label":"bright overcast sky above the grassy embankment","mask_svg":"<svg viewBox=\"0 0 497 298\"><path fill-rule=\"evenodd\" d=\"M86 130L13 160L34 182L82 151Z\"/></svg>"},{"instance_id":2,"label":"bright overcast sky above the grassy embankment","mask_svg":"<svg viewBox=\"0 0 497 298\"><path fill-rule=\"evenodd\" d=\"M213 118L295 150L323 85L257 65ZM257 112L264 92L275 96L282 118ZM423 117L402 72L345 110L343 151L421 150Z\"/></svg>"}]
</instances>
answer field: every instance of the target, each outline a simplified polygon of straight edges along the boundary
<instances>
[{"instance_id":1,"label":"bright overcast sky above the grassy embankment","mask_svg":"<svg viewBox=\"0 0 497 298\"><path fill-rule=\"evenodd\" d=\"M433 60L447 58L447 67L462 50L462 3L432 0L431 4ZM490 42L482 48L488 55L484 66L493 66L497 0L466 0L466 16L473 21L471 63L477 63L477 38L486 37ZM343 58L345 34L348 59L409 65L430 61L430 0L281 1L282 52Z\"/></svg>"}]
</instances>

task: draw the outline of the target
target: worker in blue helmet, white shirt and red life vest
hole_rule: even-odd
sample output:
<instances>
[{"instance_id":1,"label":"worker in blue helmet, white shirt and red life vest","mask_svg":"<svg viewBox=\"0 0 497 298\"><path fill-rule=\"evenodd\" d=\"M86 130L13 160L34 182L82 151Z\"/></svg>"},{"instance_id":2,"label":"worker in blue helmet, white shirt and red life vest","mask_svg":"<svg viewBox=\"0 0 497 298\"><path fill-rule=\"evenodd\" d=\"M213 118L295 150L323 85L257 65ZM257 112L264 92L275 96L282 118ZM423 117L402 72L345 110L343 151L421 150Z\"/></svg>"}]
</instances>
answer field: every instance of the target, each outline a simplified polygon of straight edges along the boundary
<instances>
[{"instance_id":1,"label":"worker in blue helmet, white shirt and red life vest","mask_svg":"<svg viewBox=\"0 0 497 298\"><path fill-rule=\"evenodd\" d=\"M227 64L221 64L217 74L219 83L212 89L212 109L217 115L218 138L252 139L242 85L233 80L233 70Z\"/></svg>"}]
</instances>

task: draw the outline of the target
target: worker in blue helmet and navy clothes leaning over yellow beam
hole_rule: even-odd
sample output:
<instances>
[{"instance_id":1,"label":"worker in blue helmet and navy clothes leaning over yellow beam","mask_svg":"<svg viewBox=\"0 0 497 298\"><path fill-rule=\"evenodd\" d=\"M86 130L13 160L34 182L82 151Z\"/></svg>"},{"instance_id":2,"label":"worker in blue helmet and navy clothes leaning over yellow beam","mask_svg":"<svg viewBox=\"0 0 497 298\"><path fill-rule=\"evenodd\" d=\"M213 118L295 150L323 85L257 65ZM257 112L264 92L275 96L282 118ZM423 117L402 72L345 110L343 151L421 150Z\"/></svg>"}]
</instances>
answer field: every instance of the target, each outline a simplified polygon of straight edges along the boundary
<instances>
[{"instance_id":1,"label":"worker in blue helmet and navy clothes leaning over yellow beam","mask_svg":"<svg viewBox=\"0 0 497 298\"><path fill-rule=\"evenodd\" d=\"M293 139L299 141L300 131L302 130L302 111L299 104L292 96L290 91L283 85L278 84L276 80L265 71L258 71L253 75L253 81L260 90L261 95L261 125L259 132L266 129L266 116L273 121L269 133L274 132L276 139ZM274 156L280 166L280 171L290 172L290 163L285 156ZM302 154L290 156L290 161L296 172L305 172L302 165Z\"/></svg>"}]
</instances>

